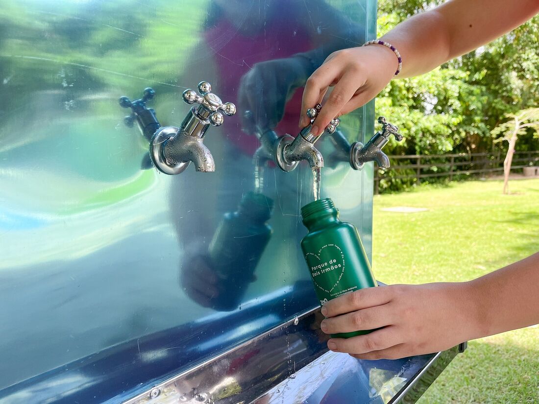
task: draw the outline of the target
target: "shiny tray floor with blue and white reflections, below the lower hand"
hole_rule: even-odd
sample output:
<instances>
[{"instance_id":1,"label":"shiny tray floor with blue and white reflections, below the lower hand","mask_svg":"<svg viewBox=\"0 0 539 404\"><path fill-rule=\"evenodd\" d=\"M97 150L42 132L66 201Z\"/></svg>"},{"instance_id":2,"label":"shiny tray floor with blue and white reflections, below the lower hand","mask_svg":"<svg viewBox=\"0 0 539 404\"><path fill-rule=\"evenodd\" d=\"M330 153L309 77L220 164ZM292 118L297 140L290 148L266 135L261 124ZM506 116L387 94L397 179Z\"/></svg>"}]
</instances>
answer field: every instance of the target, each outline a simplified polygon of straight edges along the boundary
<instances>
[{"instance_id":1,"label":"shiny tray floor with blue and white reflections, below the lower hand","mask_svg":"<svg viewBox=\"0 0 539 404\"><path fill-rule=\"evenodd\" d=\"M253 404L414 403L457 354L363 361L328 352L260 396Z\"/></svg>"}]
</instances>

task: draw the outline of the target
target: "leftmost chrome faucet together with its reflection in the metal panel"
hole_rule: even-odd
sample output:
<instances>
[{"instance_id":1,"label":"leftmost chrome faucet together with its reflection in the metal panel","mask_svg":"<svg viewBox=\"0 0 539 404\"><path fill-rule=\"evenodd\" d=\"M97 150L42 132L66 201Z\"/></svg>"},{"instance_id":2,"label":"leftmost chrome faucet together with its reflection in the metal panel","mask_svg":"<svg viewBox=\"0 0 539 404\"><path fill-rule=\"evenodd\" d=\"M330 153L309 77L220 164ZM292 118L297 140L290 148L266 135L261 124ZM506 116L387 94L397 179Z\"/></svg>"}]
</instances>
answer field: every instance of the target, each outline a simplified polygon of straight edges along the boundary
<instances>
[{"instance_id":1,"label":"leftmost chrome faucet together with its reflection in the metal panel","mask_svg":"<svg viewBox=\"0 0 539 404\"><path fill-rule=\"evenodd\" d=\"M146 102L153 98L155 92L151 88L144 90L142 99L131 102L128 97L120 98L123 108L131 108L133 113L125 118L128 126L136 121L142 134L150 142L150 159L155 168L165 174L174 175L183 172L190 162L195 164L196 171L215 171L215 161L210 150L204 145L204 135L210 126L220 126L224 116L234 115L236 106L231 102L223 103L211 92L207 81L198 84L198 95L194 90L183 92L183 100L188 104L198 103L192 107L179 128L161 126L155 116L155 110L146 108Z\"/></svg>"}]
</instances>

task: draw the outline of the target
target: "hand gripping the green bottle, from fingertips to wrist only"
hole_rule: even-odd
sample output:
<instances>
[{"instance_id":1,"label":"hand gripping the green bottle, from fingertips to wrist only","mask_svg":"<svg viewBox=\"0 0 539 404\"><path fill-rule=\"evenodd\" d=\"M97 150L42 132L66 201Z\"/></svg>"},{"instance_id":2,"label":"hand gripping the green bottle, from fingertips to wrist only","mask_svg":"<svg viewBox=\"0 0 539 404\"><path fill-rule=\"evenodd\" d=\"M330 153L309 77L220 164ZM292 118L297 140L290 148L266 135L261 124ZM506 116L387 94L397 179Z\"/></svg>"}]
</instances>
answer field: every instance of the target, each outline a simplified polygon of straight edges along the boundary
<instances>
[{"instance_id":1,"label":"hand gripping the green bottle, from fingertips to wrist only","mask_svg":"<svg viewBox=\"0 0 539 404\"><path fill-rule=\"evenodd\" d=\"M357 290L322 307L328 334L375 330L331 338L328 348L359 359L398 359L443 351L478 338L480 318L466 283L390 285Z\"/></svg>"}]
</instances>

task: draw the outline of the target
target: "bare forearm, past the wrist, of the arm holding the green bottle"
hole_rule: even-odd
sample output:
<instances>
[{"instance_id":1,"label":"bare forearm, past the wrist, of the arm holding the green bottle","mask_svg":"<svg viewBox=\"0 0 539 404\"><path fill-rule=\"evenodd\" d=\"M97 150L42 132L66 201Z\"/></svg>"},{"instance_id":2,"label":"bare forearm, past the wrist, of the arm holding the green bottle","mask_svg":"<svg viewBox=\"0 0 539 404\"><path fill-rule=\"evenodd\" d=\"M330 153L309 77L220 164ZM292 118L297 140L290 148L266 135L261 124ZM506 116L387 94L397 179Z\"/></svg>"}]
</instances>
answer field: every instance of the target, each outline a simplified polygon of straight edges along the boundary
<instances>
[{"instance_id":1,"label":"bare forearm, past the wrist, of the arm holding the green bottle","mask_svg":"<svg viewBox=\"0 0 539 404\"><path fill-rule=\"evenodd\" d=\"M539 323L539 253L468 282L476 337Z\"/></svg>"}]
</instances>

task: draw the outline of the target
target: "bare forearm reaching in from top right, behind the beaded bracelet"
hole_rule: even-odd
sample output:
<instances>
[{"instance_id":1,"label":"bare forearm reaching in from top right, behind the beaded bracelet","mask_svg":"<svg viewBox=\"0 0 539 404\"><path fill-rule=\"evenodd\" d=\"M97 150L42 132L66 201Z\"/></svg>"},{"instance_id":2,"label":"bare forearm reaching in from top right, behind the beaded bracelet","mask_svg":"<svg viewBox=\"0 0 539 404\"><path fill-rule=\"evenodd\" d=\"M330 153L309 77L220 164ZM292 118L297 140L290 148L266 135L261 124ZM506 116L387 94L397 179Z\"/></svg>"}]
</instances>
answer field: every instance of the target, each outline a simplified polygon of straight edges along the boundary
<instances>
[{"instance_id":1,"label":"bare forearm reaching in from top right, behind the beaded bracelet","mask_svg":"<svg viewBox=\"0 0 539 404\"><path fill-rule=\"evenodd\" d=\"M537 12L537 0L450 0L405 20L381 39L402 55L399 77L411 77L502 36Z\"/></svg>"}]
</instances>

